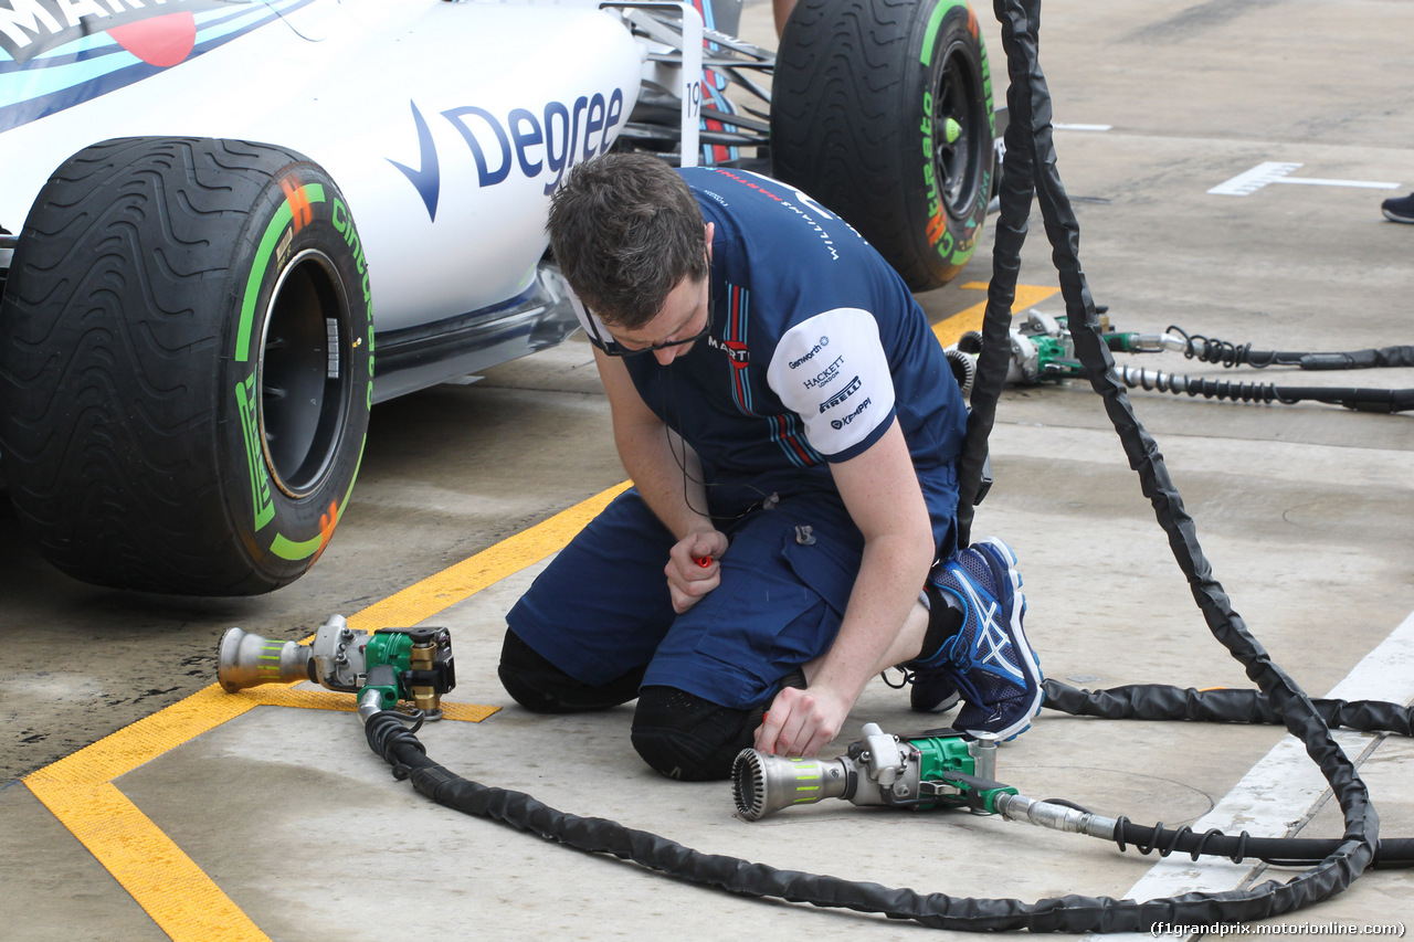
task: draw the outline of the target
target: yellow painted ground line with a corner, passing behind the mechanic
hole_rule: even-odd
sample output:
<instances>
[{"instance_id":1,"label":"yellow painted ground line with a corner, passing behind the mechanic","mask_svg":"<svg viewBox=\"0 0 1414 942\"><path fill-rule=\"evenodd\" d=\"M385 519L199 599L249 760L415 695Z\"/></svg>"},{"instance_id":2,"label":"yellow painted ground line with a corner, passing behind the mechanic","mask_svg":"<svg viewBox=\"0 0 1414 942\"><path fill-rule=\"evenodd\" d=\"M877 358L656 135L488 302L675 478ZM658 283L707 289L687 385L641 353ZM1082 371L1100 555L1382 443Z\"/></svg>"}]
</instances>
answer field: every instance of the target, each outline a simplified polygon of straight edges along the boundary
<instances>
[{"instance_id":1,"label":"yellow painted ground line with a corner, passing behind the mechanic","mask_svg":"<svg viewBox=\"0 0 1414 942\"><path fill-rule=\"evenodd\" d=\"M964 289L983 289L969 283ZM1059 289L1017 286L1015 307L1036 304ZM980 330L987 303L974 304L936 324L946 347ZM373 603L349 617L349 627L376 631L411 627L482 588L559 552L595 513L629 487L625 481L550 519L451 566L436 576ZM137 720L112 735L24 778L25 786L107 868L133 900L175 942L269 942L269 936L157 825L137 809L113 779L260 704L346 709L348 697L271 686L225 693L211 685ZM450 719L478 721L496 707L444 704Z\"/></svg>"}]
</instances>

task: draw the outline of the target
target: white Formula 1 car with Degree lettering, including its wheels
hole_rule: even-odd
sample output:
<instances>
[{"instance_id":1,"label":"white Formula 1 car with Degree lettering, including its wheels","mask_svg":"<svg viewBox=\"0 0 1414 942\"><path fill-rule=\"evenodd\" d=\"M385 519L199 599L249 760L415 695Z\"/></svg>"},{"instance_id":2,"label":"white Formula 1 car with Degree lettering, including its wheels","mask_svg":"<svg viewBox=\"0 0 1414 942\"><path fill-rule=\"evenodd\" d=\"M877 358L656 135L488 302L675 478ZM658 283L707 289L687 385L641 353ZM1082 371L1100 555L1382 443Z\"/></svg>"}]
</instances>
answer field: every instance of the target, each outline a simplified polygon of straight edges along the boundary
<instances>
[{"instance_id":1,"label":"white Formula 1 car with Degree lettering, including its wheels","mask_svg":"<svg viewBox=\"0 0 1414 942\"><path fill-rule=\"evenodd\" d=\"M0 0L0 478L44 556L298 578L375 403L574 330L544 212L605 150L773 174L946 283L994 174L966 1L800 0L776 52L740 4Z\"/></svg>"}]
</instances>

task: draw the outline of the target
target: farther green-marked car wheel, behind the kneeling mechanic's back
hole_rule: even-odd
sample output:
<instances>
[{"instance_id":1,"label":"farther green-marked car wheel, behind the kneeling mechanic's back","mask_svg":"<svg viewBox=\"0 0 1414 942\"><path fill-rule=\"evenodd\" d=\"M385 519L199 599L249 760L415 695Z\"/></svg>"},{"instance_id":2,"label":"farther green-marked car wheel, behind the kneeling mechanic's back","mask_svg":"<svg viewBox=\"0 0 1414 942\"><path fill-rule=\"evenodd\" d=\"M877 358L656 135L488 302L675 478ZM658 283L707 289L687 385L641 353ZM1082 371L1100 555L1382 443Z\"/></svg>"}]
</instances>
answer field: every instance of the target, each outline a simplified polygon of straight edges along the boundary
<instances>
[{"instance_id":1,"label":"farther green-marked car wheel, behind the kneeling mechanic's back","mask_svg":"<svg viewBox=\"0 0 1414 942\"><path fill-rule=\"evenodd\" d=\"M991 198L991 76L966 0L800 0L771 100L776 177L839 212L915 291L971 257Z\"/></svg>"}]
</instances>

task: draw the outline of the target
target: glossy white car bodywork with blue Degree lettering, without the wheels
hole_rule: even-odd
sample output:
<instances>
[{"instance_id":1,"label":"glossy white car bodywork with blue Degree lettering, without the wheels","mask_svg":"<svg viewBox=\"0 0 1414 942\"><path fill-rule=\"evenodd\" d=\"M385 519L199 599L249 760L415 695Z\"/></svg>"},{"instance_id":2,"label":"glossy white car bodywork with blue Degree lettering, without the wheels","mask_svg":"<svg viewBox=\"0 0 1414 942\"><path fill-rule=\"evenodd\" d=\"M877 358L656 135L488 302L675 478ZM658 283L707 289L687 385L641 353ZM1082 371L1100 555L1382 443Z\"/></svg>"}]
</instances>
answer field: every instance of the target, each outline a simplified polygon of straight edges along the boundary
<instances>
[{"instance_id":1,"label":"glossy white car bodywork with blue Degree lettering, without the wheels","mask_svg":"<svg viewBox=\"0 0 1414 942\"><path fill-rule=\"evenodd\" d=\"M17 232L48 174L96 140L279 141L339 181L376 260L375 399L472 372L573 330L537 276L543 205L633 109L642 55L615 20L583 4L3 0L0 225Z\"/></svg>"}]
</instances>

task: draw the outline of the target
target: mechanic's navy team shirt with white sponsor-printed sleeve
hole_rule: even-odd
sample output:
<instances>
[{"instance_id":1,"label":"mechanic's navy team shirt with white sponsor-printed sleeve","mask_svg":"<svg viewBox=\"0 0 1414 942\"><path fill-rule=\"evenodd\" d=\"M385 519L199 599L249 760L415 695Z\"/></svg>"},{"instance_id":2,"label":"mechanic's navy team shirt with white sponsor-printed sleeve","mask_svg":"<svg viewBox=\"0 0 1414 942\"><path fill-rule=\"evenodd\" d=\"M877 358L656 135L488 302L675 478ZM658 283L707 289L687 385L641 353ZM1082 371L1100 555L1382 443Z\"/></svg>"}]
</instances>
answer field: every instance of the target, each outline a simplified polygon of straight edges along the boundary
<instances>
[{"instance_id":1,"label":"mechanic's navy team shirt with white sponsor-printed sleeve","mask_svg":"<svg viewBox=\"0 0 1414 942\"><path fill-rule=\"evenodd\" d=\"M715 223L711 328L667 366L650 354L624 362L701 460L713 515L769 494L836 492L827 463L865 451L896 416L936 542L950 550L966 412L902 279L785 184L720 167L680 173ZM591 338L607 337L592 327Z\"/></svg>"}]
</instances>

